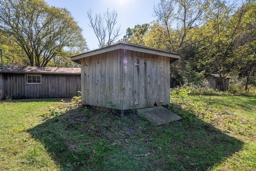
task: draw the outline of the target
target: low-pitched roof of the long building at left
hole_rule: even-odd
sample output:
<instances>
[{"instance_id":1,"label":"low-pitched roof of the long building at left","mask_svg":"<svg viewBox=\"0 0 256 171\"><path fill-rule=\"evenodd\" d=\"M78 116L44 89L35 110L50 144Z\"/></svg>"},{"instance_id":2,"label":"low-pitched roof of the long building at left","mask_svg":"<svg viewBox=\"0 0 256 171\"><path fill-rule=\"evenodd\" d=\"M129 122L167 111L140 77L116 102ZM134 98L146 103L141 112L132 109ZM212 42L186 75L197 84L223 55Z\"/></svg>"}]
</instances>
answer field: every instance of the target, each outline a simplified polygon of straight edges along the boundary
<instances>
[{"instance_id":1,"label":"low-pitched roof of the long building at left","mask_svg":"<svg viewBox=\"0 0 256 171\"><path fill-rule=\"evenodd\" d=\"M81 74L81 68L56 68L56 67L36 67L36 66L5 66L3 68L0 68L0 73L80 75Z\"/></svg>"}]
</instances>

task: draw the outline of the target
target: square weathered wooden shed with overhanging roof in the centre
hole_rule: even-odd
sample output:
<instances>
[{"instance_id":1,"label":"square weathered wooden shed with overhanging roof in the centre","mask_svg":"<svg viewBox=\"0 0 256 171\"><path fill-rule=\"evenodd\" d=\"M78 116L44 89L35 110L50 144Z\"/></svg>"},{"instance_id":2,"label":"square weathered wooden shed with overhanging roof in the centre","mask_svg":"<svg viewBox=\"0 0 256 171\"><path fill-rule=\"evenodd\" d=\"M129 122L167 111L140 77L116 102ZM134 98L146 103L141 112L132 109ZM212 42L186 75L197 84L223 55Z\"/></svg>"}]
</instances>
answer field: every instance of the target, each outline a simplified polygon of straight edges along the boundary
<instances>
[{"instance_id":1,"label":"square weathered wooden shed with overhanging roof in the centre","mask_svg":"<svg viewBox=\"0 0 256 171\"><path fill-rule=\"evenodd\" d=\"M82 103L118 110L170 103L170 63L180 55L118 43L71 57L81 64Z\"/></svg>"}]
</instances>

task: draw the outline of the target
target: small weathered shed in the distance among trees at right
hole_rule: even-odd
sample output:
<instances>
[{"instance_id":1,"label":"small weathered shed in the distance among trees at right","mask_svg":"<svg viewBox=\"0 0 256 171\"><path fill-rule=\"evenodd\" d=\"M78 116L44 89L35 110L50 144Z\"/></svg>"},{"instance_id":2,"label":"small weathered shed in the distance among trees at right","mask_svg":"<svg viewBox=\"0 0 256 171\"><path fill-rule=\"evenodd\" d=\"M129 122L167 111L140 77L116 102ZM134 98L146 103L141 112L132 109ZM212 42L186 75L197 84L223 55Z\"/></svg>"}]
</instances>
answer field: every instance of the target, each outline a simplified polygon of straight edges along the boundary
<instances>
[{"instance_id":1,"label":"small weathered shed in the distance among trees at right","mask_svg":"<svg viewBox=\"0 0 256 171\"><path fill-rule=\"evenodd\" d=\"M206 88L218 89L220 91L228 90L229 80L232 77L222 77L219 74L207 74L206 75Z\"/></svg>"}]
</instances>

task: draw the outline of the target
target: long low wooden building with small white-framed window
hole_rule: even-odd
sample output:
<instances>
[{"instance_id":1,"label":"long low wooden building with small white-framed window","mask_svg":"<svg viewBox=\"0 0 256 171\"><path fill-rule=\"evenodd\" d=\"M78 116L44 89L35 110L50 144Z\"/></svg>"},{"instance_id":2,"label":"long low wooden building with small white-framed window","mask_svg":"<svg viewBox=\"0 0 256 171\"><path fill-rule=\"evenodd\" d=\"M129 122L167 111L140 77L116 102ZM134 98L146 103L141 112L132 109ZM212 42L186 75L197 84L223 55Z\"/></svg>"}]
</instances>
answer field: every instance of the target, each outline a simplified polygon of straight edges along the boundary
<instances>
[{"instance_id":1,"label":"long low wooden building with small white-framed window","mask_svg":"<svg viewBox=\"0 0 256 171\"><path fill-rule=\"evenodd\" d=\"M80 68L5 66L0 68L3 98L64 98L80 95Z\"/></svg>"}]
</instances>

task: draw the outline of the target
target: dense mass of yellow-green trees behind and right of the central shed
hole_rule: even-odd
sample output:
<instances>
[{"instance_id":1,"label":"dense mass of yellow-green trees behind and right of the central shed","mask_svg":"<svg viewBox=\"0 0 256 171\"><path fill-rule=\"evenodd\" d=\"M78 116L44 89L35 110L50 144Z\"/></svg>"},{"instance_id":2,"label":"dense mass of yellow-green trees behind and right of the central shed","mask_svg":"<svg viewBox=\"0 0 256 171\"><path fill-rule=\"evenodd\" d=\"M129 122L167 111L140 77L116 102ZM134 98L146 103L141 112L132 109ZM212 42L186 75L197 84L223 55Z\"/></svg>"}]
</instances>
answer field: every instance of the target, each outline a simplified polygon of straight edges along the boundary
<instances>
[{"instance_id":1,"label":"dense mass of yellow-green trees behind and right of the central shed","mask_svg":"<svg viewBox=\"0 0 256 171\"><path fill-rule=\"evenodd\" d=\"M162 0L154 5L156 20L148 28L128 28L127 35L181 55L171 64L171 87L203 88L204 74L212 73L238 76L248 90L256 76L255 8L254 1Z\"/></svg>"}]
</instances>

